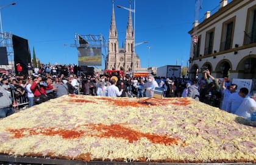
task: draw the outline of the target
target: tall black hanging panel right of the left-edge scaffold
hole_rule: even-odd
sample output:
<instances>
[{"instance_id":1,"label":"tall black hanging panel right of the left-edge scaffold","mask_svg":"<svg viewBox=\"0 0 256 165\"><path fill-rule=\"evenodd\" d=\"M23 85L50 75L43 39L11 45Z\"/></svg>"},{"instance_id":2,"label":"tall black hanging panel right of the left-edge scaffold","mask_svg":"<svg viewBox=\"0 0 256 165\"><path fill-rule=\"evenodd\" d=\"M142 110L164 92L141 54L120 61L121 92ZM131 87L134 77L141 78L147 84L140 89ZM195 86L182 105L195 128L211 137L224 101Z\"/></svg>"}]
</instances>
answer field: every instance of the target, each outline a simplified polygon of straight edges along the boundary
<instances>
[{"instance_id":1,"label":"tall black hanging panel right of the left-edge scaffold","mask_svg":"<svg viewBox=\"0 0 256 165\"><path fill-rule=\"evenodd\" d=\"M27 74L27 63L31 62L28 41L24 38L12 35L12 44L15 66L20 63L23 68L22 74ZM15 71L16 69L15 67ZM18 74L17 71L16 74Z\"/></svg>"}]
</instances>

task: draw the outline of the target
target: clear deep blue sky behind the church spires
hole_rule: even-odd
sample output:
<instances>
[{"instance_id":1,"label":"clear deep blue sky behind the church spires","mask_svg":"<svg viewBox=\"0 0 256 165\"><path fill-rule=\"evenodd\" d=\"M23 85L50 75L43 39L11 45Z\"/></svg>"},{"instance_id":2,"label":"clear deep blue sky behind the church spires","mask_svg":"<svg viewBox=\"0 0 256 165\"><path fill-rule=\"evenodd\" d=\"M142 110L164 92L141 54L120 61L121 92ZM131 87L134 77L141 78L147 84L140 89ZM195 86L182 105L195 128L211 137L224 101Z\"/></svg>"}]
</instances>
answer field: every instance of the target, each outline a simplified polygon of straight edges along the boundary
<instances>
[{"instance_id":1,"label":"clear deep blue sky behind the church spires","mask_svg":"<svg viewBox=\"0 0 256 165\"><path fill-rule=\"evenodd\" d=\"M202 1L202 0L201 0ZM4 32L26 38L41 63L77 64L74 35L102 34L108 41L112 0L2 0L0 6ZM129 0L115 0L119 47L125 38ZM219 0L202 1L199 18L213 10ZM133 1L132 1L133 9ZM141 68L149 66L187 66L190 54L188 31L195 19L195 0L136 0L135 42L148 41L136 47ZM151 48L148 49L148 46ZM103 54L106 52L103 50ZM104 69L104 65L98 66Z\"/></svg>"}]
</instances>

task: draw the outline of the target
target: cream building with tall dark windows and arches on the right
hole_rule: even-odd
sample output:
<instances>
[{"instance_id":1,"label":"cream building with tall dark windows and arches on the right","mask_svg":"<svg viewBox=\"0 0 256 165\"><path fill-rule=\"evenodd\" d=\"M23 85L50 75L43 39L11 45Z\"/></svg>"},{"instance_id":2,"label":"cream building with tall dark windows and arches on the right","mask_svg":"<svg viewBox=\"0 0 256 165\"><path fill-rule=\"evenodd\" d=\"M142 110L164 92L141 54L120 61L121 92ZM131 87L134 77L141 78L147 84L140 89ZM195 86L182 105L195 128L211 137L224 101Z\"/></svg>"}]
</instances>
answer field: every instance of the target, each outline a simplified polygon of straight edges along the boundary
<instances>
[{"instance_id":1,"label":"cream building with tall dark windows and arches on the right","mask_svg":"<svg viewBox=\"0 0 256 165\"><path fill-rule=\"evenodd\" d=\"M190 30L190 78L207 68L214 77L256 78L256 1L221 0Z\"/></svg>"}]
</instances>

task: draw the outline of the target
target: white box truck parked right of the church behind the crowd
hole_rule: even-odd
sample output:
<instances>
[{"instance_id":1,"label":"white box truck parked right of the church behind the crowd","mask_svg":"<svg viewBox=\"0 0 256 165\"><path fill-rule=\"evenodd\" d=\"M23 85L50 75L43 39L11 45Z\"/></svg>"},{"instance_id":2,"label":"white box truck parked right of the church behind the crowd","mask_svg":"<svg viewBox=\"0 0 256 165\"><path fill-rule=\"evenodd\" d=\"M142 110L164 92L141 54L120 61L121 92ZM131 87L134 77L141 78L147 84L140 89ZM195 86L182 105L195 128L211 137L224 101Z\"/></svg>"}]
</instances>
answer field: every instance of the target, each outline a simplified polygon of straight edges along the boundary
<instances>
[{"instance_id":1,"label":"white box truck parked right of the church behind the crowd","mask_svg":"<svg viewBox=\"0 0 256 165\"><path fill-rule=\"evenodd\" d=\"M157 77L180 77L181 66L180 65L165 65L157 68Z\"/></svg>"}]
</instances>

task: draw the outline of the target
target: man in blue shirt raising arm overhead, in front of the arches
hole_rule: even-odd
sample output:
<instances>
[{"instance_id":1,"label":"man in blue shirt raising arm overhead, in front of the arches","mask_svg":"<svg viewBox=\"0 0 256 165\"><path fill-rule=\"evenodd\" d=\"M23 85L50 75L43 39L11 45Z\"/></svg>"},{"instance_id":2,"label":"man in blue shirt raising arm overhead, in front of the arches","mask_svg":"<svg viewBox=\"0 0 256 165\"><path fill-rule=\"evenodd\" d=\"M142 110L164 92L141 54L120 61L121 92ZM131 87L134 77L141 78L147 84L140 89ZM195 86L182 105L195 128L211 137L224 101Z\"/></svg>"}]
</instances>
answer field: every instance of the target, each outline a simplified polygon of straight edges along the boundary
<instances>
[{"instance_id":1,"label":"man in blue shirt raising arm overhead, in front of the arches","mask_svg":"<svg viewBox=\"0 0 256 165\"><path fill-rule=\"evenodd\" d=\"M225 86L225 83L229 82L229 78L224 77L221 83L221 90L222 90L222 103L221 103L221 110L227 111L227 101L229 99L230 94L235 93L237 89L237 85L232 83L230 86Z\"/></svg>"}]
</instances>

